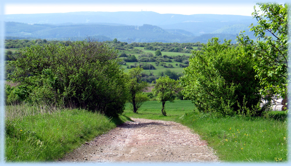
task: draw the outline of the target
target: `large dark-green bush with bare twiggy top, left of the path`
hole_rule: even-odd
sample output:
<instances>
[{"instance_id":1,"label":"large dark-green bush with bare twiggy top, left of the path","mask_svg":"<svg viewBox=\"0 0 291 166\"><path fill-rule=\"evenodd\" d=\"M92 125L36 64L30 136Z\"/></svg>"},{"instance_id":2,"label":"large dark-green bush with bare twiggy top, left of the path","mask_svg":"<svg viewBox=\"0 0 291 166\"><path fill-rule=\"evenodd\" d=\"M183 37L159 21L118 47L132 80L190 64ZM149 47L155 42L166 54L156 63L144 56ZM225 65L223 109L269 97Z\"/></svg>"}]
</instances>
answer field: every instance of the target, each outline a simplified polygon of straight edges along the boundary
<instances>
[{"instance_id":1,"label":"large dark-green bush with bare twiggy top, left of the path","mask_svg":"<svg viewBox=\"0 0 291 166\"><path fill-rule=\"evenodd\" d=\"M77 107L117 116L127 101L117 52L94 41L32 45L9 61L16 94L31 103Z\"/></svg>"}]
</instances>

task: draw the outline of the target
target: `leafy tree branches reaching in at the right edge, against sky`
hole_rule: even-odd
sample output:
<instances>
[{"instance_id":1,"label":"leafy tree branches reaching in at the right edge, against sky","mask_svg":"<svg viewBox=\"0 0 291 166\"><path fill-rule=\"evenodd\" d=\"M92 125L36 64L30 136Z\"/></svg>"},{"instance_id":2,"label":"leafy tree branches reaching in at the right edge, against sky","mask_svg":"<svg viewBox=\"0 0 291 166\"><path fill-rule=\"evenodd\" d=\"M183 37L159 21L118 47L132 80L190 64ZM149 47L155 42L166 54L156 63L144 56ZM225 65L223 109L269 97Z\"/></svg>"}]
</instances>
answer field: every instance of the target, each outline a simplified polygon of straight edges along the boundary
<instances>
[{"instance_id":1,"label":"leafy tree branches reaching in at the right edge, against sky","mask_svg":"<svg viewBox=\"0 0 291 166\"><path fill-rule=\"evenodd\" d=\"M252 15L258 25L251 24L257 40L239 34L238 41L244 49L244 56L253 57L256 79L260 80L264 96L287 96L287 85L290 82L288 73L288 28L289 5L277 3L257 3L261 11L255 10ZM255 8L254 8L255 9Z\"/></svg>"}]
</instances>

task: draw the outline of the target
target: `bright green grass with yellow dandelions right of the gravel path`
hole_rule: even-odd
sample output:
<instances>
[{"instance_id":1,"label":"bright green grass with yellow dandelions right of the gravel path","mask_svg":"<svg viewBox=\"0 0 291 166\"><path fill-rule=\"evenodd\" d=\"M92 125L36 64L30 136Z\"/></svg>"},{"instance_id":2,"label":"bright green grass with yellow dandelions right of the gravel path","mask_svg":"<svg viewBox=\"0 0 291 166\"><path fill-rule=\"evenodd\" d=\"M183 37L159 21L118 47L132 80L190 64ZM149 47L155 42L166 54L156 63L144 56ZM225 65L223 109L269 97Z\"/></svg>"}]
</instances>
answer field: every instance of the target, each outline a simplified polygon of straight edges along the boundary
<instances>
[{"instance_id":1,"label":"bright green grass with yellow dandelions right of the gravel path","mask_svg":"<svg viewBox=\"0 0 291 166\"><path fill-rule=\"evenodd\" d=\"M265 117L216 118L193 111L191 101L166 103L168 116L162 116L161 103L148 101L138 114L126 107L124 115L176 121L193 129L225 162L286 162L288 147L287 119L284 112L269 112ZM276 161L277 159L277 161Z\"/></svg>"}]
</instances>

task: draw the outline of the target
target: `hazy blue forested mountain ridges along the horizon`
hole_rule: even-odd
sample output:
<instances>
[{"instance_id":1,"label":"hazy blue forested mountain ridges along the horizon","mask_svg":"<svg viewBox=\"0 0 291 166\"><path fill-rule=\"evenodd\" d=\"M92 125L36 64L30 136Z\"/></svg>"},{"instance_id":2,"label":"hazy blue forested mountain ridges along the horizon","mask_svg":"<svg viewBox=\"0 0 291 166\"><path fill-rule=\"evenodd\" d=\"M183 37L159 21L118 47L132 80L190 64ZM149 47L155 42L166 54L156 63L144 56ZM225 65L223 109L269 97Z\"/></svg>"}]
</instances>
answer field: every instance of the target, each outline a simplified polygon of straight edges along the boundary
<instances>
[{"instance_id":1,"label":"hazy blue forested mountain ridges along the horizon","mask_svg":"<svg viewBox=\"0 0 291 166\"><path fill-rule=\"evenodd\" d=\"M70 12L5 15L6 36L68 39L85 36L136 42L206 43L207 36L232 39L247 35L251 16L159 14L155 12ZM18 23L17 23L18 22ZM213 37L215 37L213 36ZM223 40L223 39L221 39Z\"/></svg>"}]
</instances>

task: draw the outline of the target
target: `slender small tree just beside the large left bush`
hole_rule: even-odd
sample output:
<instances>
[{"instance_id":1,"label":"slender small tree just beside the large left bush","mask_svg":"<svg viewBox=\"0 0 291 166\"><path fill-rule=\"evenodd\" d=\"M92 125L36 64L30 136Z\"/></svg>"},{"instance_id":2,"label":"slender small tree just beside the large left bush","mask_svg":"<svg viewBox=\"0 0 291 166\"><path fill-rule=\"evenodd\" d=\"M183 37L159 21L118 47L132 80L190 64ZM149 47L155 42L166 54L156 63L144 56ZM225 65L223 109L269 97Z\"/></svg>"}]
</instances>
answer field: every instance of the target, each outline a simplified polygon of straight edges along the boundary
<instances>
[{"instance_id":1,"label":"slender small tree just beside the large left bush","mask_svg":"<svg viewBox=\"0 0 291 166\"><path fill-rule=\"evenodd\" d=\"M137 110L145 102L145 100L148 100L144 95L139 94L148 87L147 82L141 81L142 72L143 68L136 67L128 70L127 73L127 75L129 76L129 94L131 95L129 102L132 104L132 111L134 113L137 112Z\"/></svg>"}]
</instances>

